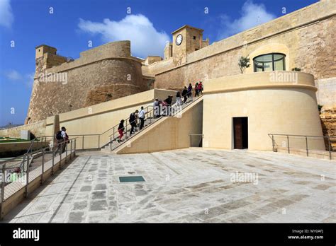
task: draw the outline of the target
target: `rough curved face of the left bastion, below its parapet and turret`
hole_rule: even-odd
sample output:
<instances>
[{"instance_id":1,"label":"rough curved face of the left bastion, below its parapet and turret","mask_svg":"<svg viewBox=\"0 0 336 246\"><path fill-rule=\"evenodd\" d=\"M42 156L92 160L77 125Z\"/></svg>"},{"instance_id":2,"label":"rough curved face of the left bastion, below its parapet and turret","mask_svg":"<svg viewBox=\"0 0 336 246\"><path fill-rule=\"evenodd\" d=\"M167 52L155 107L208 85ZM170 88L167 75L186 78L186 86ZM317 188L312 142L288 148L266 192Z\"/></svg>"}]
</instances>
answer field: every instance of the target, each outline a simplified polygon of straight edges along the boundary
<instances>
[{"instance_id":1,"label":"rough curved face of the left bastion, below its parapet and turret","mask_svg":"<svg viewBox=\"0 0 336 246\"><path fill-rule=\"evenodd\" d=\"M61 65L62 66L62 65ZM38 81L30 98L30 122L147 90L141 64L133 58L108 58L68 70L67 81Z\"/></svg>"}]
</instances>

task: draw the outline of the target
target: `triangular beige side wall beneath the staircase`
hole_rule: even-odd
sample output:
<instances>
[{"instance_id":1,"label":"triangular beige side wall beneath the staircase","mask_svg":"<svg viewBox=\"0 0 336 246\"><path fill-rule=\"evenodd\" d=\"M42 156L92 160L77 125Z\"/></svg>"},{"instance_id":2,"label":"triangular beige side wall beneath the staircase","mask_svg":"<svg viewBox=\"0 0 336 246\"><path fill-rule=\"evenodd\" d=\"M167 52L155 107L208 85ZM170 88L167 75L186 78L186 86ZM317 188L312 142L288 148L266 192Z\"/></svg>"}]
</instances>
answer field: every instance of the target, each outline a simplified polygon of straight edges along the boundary
<instances>
[{"instance_id":1,"label":"triangular beige side wall beneath the staircase","mask_svg":"<svg viewBox=\"0 0 336 246\"><path fill-rule=\"evenodd\" d=\"M151 153L191 146L190 134L202 134L203 98L196 98L177 115L162 117L114 149L113 153Z\"/></svg>"}]
</instances>

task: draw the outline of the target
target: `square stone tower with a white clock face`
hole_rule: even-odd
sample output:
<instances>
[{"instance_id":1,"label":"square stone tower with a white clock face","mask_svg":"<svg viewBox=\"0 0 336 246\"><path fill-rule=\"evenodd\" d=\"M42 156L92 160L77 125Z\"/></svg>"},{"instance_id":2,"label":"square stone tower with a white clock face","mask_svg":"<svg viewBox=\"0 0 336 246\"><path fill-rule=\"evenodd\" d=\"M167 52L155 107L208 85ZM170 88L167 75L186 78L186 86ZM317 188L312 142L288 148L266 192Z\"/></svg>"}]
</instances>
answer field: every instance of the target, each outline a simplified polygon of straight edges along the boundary
<instances>
[{"instance_id":1,"label":"square stone tower with a white clock face","mask_svg":"<svg viewBox=\"0 0 336 246\"><path fill-rule=\"evenodd\" d=\"M178 64L186 63L186 54L208 46L209 41L203 40L203 30L184 25L173 33L172 57Z\"/></svg>"}]
</instances>

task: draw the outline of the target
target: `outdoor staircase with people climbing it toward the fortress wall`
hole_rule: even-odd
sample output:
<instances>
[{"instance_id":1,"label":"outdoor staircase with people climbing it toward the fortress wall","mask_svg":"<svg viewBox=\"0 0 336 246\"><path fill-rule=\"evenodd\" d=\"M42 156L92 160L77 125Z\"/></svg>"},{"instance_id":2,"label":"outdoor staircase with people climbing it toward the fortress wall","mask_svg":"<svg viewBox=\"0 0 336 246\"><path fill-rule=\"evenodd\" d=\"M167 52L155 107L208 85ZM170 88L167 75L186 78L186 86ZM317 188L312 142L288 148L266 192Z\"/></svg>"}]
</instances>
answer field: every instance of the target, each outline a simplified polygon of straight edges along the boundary
<instances>
[{"instance_id":1,"label":"outdoor staircase with people climbing it toward the fortress wall","mask_svg":"<svg viewBox=\"0 0 336 246\"><path fill-rule=\"evenodd\" d=\"M201 97L202 97L202 95L198 98L201 98ZM185 107L188 107L189 105L191 105L198 98L194 98L194 100L187 100L186 104L184 103L183 105L181 105L181 107L179 107L179 110L178 111L175 110L174 114L171 115L171 116L161 116L161 117L155 118L155 117L153 117L153 110L151 110L150 112L147 112L147 115L149 115L149 116L145 117L145 124L144 124L145 127L143 129L146 129L150 125L155 124L155 122L157 122L159 119L162 119L163 117L173 117L173 116L177 115L181 110L184 110ZM174 107L174 105L172 105L172 107ZM128 123L128 119L126 119L125 122L126 121ZM128 125L125 126L125 129L126 129L126 131L124 131L123 141L121 143L118 143L118 141L117 141L119 133L118 133L118 131L116 131L114 133L114 136L115 136L114 139L113 139L113 134L111 134L111 136L110 136L111 141L109 141L105 146L103 146L101 148L101 151L104 152L104 153L111 153L113 150L115 150L119 146L127 145L129 143L129 141L128 141L129 139L133 138L133 136L136 136L137 134L140 133L140 129L137 127L137 129L135 129L135 133L130 135L130 124L129 123L128 123Z\"/></svg>"}]
</instances>

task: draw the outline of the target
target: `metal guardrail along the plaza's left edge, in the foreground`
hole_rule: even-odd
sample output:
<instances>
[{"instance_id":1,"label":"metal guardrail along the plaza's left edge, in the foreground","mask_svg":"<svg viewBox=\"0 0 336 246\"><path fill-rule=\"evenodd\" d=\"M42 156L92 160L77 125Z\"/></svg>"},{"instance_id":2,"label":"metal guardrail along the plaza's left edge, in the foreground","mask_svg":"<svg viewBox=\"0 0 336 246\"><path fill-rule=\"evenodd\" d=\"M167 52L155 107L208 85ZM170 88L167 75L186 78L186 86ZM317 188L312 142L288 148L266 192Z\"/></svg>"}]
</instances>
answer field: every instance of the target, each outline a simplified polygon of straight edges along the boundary
<instances>
[{"instance_id":1,"label":"metal guardrail along the plaza's left edge, in the foreground","mask_svg":"<svg viewBox=\"0 0 336 246\"><path fill-rule=\"evenodd\" d=\"M70 149L68 149L68 145L70 146ZM67 141L62 141L58 144L55 144L54 146L52 146L52 148L57 147L57 150L60 148L60 163L62 162L62 153L65 153L65 163L67 163L67 156L68 156L68 152L70 152L70 158L71 158L71 154L76 150L76 138L74 139L69 139L69 144L67 143ZM64 149L64 152L62 151ZM47 151L49 150L49 151ZM40 165L41 167L41 184L43 183L43 174L45 173L45 154L46 153L52 153L52 165L51 165L51 174L54 174L54 165L55 165L55 154L54 151L50 151L50 146L47 147L43 147L40 148L36 151L27 151L27 153L23 154L22 156L17 156L15 158L11 158L9 160L4 160L4 162L0 163L1 166L1 196L0 196L0 218L3 218L3 205L4 205L4 201L5 201L5 192L6 192L6 185L10 185L13 182L19 181L22 183L24 183L25 185L23 186L26 191L25 191L25 197L28 197L28 185L30 184L30 181L32 182L33 180L30 180L30 172L34 172L34 170L36 170L37 168L35 168L34 170L30 170L30 158L32 158L32 156L34 154L40 153L42 152L43 156L42 156L42 164ZM64 155L64 154L63 154ZM13 177L13 172L9 172L7 174L7 170L13 170L13 168L18 168L19 163L12 163L13 160L21 160L23 159L23 170L21 170L20 172L20 176L18 177L18 173L15 174L15 177ZM25 170L25 163L27 163L26 165L26 170ZM61 168L61 166L60 166ZM9 178L8 178L9 177ZM38 177L38 176L37 176ZM22 185L18 185L17 188L13 188L10 192L15 194L16 192L18 192L18 190L23 188ZM17 190L16 190L17 189ZM11 195L13 195L11 194ZM11 195L9 197L11 197ZM6 199L9 199L9 197L6 197Z\"/></svg>"}]
</instances>

